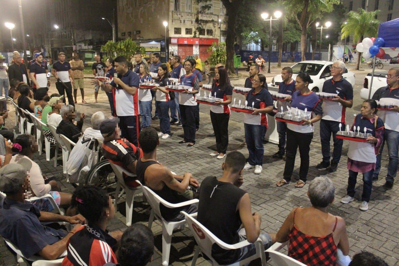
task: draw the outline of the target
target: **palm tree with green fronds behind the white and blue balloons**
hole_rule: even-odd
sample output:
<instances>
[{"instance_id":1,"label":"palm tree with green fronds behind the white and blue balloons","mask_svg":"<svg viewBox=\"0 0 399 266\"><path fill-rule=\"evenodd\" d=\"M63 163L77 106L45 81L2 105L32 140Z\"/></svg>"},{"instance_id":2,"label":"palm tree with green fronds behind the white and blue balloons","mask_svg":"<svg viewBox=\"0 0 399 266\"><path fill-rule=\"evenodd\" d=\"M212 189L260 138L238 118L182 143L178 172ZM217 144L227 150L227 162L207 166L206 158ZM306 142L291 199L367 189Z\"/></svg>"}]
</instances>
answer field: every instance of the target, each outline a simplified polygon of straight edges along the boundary
<instances>
[{"instance_id":1,"label":"palm tree with green fronds behind the white and blue balloons","mask_svg":"<svg viewBox=\"0 0 399 266\"><path fill-rule=\"evenodd\" d=\"M357 12L351 11L348 13L346 24L341 26L341 40L348 36L353 36L353 40L358 40L356 44L363 40L366 36L377 36L379 20L376 19L379 10L367 12L359 8ZM358 53L358 61L356 62L356 69L359 70L361 60L361 53Z\"/></svg>"}]
</instances>

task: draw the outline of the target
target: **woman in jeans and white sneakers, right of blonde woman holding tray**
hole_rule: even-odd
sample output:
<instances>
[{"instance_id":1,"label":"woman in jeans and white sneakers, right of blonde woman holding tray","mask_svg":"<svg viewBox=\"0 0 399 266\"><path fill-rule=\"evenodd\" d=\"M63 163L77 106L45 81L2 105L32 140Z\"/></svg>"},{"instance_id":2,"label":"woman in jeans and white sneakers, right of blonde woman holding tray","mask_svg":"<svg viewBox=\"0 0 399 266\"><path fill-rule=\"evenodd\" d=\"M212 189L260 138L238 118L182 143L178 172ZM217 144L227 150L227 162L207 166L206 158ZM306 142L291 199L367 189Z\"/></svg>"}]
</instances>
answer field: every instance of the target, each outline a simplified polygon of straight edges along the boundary
<instances>
[{"instance_id":1,"label":"woman in jeans and white sneakers, right of blonde woman holding tray","mask_svg":"<svg viewBox=\"0 0 399 266\"><path fill-rule=\"evenodd\" d=\"M170 137L169 101L171 99L169 91L165 89L166 85L169 84L168 67L166 65L162 64L158 67L158 77L159 87L156 86L154 88L156 90L155 99L158 104L158 114L160 115L159 127L161 128L161 132L158 133L158 137L162 136L162 139L167 139Z\"/></svg>"}]
</instances>

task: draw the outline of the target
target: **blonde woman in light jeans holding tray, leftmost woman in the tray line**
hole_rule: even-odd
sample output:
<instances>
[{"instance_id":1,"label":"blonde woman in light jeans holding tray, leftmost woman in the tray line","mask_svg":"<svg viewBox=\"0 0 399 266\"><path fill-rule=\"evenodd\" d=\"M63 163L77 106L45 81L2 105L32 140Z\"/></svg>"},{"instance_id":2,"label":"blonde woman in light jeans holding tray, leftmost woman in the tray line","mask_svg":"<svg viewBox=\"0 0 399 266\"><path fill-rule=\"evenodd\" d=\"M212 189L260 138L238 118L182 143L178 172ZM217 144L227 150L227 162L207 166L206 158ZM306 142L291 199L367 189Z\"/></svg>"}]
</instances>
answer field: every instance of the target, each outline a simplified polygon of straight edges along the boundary
<instances>
[{"instance_id":1,"label":"blonde woman in light jeans holding tray, leftmost woman in the tray line","mask_svg":"<svg viewBox=\"0 0 399 266\"><path fill-rule=\"evenodd\" d=\"M140 68L140 83L146 81L150 76L147 64L141 64ZM141 124L142 128L149 127L151 125L151 105L152 95L150 89L143 89L140 87L138 90L138 106L140 109Z\"/></svg>"}]
</instances>

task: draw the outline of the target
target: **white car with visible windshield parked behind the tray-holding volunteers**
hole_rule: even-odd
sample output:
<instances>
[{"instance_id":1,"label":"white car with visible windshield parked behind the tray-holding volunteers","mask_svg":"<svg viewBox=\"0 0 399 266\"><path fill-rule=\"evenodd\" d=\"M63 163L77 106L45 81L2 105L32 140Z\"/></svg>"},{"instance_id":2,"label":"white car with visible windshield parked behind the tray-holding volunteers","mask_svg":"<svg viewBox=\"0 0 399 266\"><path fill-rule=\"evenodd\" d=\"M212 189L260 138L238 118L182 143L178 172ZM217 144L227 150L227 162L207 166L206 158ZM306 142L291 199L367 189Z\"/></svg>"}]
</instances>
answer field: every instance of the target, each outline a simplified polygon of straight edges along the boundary
<instances>
[{"instance_id":1,"label":"white car with visible windshield parked behind the tray-holding volunteers","mask_svg":"<svg viewBox=\"0 0 399 266\"><path fill-rule=\"evenodd\" d=\"M333 62L316 60L301 61L291 67L292 78L295 79L299 73L308 73L313 80L313 83L309 84L309 89L319 92L323 88L324 81L331 78L330 67L332 63ZM352 84L352 87L355 85L355 73L345 69L342 76ZM281 74L273 77L272 83L269 84L269 86L278 88L280 82L282 82Z\"/></svg>"}]
</instances>

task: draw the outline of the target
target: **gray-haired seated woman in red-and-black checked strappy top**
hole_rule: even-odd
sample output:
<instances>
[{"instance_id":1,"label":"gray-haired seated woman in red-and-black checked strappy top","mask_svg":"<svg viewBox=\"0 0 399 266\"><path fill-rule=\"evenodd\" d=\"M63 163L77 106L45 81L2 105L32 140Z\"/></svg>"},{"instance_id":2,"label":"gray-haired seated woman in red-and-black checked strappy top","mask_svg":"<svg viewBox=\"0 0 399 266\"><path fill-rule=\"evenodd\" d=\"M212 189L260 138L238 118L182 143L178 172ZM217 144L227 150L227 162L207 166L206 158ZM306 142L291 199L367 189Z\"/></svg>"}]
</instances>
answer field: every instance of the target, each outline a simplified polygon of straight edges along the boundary
<instances>
[{"instance_id":1,"label":"gray-haired seated woman in red-and-black checked strappy top","mask_svg":"<svg viewBox=\"0 0 399 266\"><path fill-rule=\"evenodd\" d=\"M288 256L307 265L336 265L338 248L348 255L345 221L327 210L334 191L328 177L316 177L309 185L312 206L294 208L276 235L277 242L289 241Z\"/></svg>"}]
</instances>

